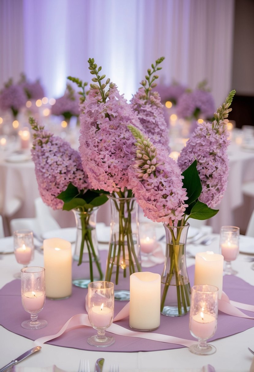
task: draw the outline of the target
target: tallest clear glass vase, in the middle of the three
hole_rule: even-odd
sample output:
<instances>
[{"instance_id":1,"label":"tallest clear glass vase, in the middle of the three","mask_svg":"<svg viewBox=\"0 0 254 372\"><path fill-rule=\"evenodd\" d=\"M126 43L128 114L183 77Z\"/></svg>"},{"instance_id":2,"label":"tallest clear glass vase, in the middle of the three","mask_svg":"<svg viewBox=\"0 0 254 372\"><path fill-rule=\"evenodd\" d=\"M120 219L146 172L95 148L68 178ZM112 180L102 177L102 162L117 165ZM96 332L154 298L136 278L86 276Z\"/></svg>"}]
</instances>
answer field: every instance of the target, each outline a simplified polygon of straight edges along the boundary
<instances>
[{"instance_id":1,"label":"tallest clear glass vase, in the middle of the three","mask_svg":"<svg viewBox=\"0 0 254 372\"><path fill-rule=\"evenodd\" d=\"M142 271L138 207L135 198L109 196L110 240L105 280L114 283L115 299L130 299L130 275Z\"/></svg>"}]
</instances>

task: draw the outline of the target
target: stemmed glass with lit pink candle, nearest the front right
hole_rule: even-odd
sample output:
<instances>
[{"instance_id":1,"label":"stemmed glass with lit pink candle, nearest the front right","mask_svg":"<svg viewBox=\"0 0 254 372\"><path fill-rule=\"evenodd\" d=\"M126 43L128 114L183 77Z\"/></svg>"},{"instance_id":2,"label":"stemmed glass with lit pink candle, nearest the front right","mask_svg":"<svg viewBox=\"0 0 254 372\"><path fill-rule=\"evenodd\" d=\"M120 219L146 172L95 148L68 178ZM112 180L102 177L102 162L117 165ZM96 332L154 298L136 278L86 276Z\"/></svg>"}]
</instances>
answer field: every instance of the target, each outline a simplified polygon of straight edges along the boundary
<instances>
[{"instance_id":1,"label":"stemmed glass with lit pink candle, nearest the front right","mask_svg":"<svg viewBox=\"0 0 254 372\"><path fill-rule=\"evenodd\" d=\"M216 347L207 344L216 331L218 318L218 288L213 285L194 285L191 290L190 333L199 341L189 350L197 355L211 355Z\"/></svg>"}]
</instances>

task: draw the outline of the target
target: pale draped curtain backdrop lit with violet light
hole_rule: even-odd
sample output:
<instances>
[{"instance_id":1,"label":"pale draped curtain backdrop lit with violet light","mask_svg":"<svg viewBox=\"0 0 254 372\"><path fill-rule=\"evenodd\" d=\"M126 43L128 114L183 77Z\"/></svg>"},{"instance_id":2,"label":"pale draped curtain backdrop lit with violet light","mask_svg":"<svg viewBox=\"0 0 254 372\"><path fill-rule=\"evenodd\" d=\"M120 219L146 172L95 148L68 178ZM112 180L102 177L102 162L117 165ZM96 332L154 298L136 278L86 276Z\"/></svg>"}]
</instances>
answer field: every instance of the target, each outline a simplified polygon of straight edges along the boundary
<instances>
[{"instance_id":1,"label":"pale draped curtain backdrop lit with violet light","mask_svg":"<svg viewBox=\"0 0 254 372\"><path fill-rule=\"evenodd\" d=\"M47 96L68 75L91 81L87 60L130 99L164 56L160 81L206 79L216 105L231 87L234 0L0 0L0 89L21 72Z\"/></svg>"}]
</instances>

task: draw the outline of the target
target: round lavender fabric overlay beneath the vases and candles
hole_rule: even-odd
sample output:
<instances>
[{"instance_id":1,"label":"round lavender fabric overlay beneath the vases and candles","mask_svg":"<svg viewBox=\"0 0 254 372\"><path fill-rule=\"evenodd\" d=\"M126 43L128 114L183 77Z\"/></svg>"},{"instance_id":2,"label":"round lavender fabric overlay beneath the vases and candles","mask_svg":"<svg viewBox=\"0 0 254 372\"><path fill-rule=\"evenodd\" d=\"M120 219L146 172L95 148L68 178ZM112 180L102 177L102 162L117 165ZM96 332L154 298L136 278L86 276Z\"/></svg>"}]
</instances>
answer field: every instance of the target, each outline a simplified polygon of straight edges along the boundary
<instances>
[{"instance_id":1,"label":"round lavender fabric overlay beneath the vases and candles","mask_svg":"<svg viewBox=\"0 0 254 372\"><path fill-rule=\"evenodd\" d=\"M105 262L106 251L101 252L102 262ZM82 265L81 265L82 266ZM73 271L76 270L77 263L73 263ZM149 271L161 273L163 265L157 265L149 268ZM188 268L191 286L194 280L194 265ZM223 291L233 301L244 302L254 305L254 287L246 283L237 276L226 275L223 277ZM13 280L7 283L0 290L0 324L6 329L31 340L36 340L39 337L48 336L57 333L61 327L73 315L86 313L85 311L85 296L87 289L77 288L73 286L72 296L68 299L53 301L46 299L45 307L39 313L39 318L45 319L48 322L47 327L41 330L25 330L21 327L21 323L28 314L22 307L20 295L20 280ZM115 301L115 314L117 314L126 305L126 301ZM244 311L245 314L253 316L250 311ZM117 324L131 329L129 327L129 319L118 321ZM224 314L219 311L218 328L215 335L209 341L220 339L222 337L231 336L254 327L254 320L247 318L238 318ZM189 315L182 317L167 317L161 315L161 325L154 333L162 333L170 336L181 337L184 339L194 339L189 331ZM49 344L63 347L72 347L82 350L97 350L96 347L90 346L86 339L96 333L92 327L77 327L66 331L57 339L48 341ZM138 351L156 351L178 349L184 347L181 345L163 343L159 341L139 339L136 337L124 337L114 335L115 343L109 346L105 351L111 352L138 352Z\"/></svg>"}]
</instances>

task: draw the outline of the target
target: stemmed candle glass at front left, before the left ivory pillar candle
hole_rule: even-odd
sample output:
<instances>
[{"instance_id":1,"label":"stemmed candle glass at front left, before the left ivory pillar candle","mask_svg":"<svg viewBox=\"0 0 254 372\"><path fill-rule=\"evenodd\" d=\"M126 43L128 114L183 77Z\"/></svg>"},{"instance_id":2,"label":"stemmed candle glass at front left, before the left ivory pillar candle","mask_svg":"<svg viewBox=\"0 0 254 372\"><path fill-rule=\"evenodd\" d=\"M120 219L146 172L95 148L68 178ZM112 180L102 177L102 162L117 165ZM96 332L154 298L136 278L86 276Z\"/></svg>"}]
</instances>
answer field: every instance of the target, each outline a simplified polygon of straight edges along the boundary
<instances>
[{"instance_id":1,"label":"stemmed candle glass at front left, before the left ivory pillar candle","mask_svg":"<svg viewBox=\"0 0 254 372\"><path fill-rule=\"evenodd\" d=\"M38 313L45 304L45 269L44 267L24 267L21 269L21 299L25 311L31 319L25 320L21 326L26 329L40 329L48 324L46 320L38 320Z\"/></svg>"}]
</instances>

